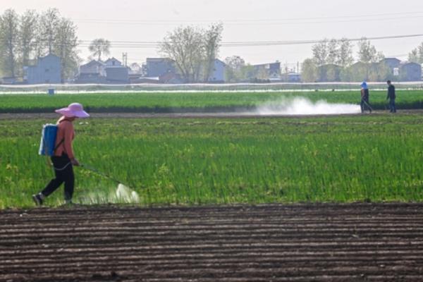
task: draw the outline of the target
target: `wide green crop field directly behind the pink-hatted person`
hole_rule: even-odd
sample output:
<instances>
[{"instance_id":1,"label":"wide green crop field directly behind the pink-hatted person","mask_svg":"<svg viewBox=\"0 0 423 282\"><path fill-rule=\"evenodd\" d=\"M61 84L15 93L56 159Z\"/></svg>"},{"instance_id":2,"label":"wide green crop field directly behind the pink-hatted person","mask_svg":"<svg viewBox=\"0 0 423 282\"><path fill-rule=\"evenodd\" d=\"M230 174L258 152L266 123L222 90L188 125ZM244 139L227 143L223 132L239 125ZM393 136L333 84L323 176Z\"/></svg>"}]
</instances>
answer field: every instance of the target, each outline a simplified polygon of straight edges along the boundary
<instances>
[{"instance_id":1,"label":"wide green crop field directly behind the pink-hatted person","mask_svg":"<svg viewBox=\"0 0 423 282\"><path fill-rule=\"evenodd\" d=\"M53 176L37 155L46 122L0 121L0 208L31 207ZM75 130L79 160L136 190L143 205L423 200L419 115L92 118ZM75 175L75 202L107 202L116 190L84 168Z\"/></svg>"}]
</instances>

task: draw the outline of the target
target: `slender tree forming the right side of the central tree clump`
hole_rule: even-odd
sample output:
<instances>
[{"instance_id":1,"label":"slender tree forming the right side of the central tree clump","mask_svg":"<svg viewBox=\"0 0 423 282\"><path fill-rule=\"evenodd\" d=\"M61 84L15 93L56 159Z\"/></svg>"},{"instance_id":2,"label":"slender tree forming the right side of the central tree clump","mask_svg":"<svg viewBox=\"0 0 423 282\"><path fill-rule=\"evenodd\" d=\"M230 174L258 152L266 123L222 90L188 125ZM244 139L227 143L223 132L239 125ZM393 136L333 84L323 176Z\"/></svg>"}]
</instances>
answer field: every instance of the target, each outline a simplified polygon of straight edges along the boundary
<instances>
[{"instance_id":1,"label":"slender tree forming the right side of the central tree clump","mask_svg":"<svg viewBox=\"0 0 423 282\"><path fill-rule=\"evenodd\" d=\"M212 73L214 60L219 53L219 44L222 39L223 24L218 23L212 25L209 30L204 32L204 51L205 51L205 66L204 66L204 81L207 82Z\"/></svg>"}]
</instances>

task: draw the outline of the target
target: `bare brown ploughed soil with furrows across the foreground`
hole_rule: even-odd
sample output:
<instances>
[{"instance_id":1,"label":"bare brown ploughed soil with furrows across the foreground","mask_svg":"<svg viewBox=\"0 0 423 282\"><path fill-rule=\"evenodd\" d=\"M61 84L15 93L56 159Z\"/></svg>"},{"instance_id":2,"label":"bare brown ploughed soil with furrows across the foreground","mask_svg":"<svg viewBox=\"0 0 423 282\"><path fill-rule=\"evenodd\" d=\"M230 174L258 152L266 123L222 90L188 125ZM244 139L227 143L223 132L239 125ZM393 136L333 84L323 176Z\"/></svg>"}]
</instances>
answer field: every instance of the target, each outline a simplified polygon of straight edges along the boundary
<instances>
[{"instance_id":1,"label":"bare brown ploughed soil with furrows across the foreground","mask_svg":"<svg viewBox=\"0 0 423 282\"><path fill-rule=\"evenodd\" d=\"M9 209L0 281L423 281L423 204Z\"/></svg>"}]
</instances>

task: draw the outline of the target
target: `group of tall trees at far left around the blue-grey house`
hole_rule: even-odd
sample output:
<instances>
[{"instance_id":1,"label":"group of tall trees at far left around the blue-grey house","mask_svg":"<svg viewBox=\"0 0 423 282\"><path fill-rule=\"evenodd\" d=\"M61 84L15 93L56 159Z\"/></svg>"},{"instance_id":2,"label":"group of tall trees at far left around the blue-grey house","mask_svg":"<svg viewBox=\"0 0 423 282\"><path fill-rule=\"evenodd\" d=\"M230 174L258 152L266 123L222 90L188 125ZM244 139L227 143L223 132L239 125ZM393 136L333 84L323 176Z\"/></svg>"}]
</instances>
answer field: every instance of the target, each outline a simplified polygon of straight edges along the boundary
<instances>
[{"instance_id":1,"label":"group of tall trees at far left around the blue-grey house","mask_svg":"<svg viewBox=\"0 0 423 282\"><path fill-rule=\"evenodd\" d=\"M78 57L77 27L61 17L59 10L44 13L26 11L18 15L8 9L0 15L0 73L12 78L22 77L23 66L41 56L55 54L61 58L62 79L74 75Z\"/></svg>"}]
</instances>

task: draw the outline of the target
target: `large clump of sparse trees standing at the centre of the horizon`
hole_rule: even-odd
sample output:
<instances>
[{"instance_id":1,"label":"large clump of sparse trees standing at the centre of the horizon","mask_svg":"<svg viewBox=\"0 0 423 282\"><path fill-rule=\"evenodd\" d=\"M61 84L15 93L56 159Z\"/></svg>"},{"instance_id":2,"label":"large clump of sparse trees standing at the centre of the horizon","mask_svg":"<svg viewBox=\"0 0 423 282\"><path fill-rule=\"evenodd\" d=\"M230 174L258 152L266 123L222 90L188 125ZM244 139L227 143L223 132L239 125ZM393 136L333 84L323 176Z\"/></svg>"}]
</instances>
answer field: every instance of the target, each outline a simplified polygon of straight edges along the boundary
<instances>
[{"instance_id":1,"label":"large clump of sparse trees standing at the centre of the horizon","mask_svg":"<svg viewBox=\"0 0 423 282\"><path fill-rule=\"evenodd\" d=\"M223 25L187 26L168 32L159 51L172 59L185 82L207 82L219 54Z\"/></svg>"}]
</instances>

